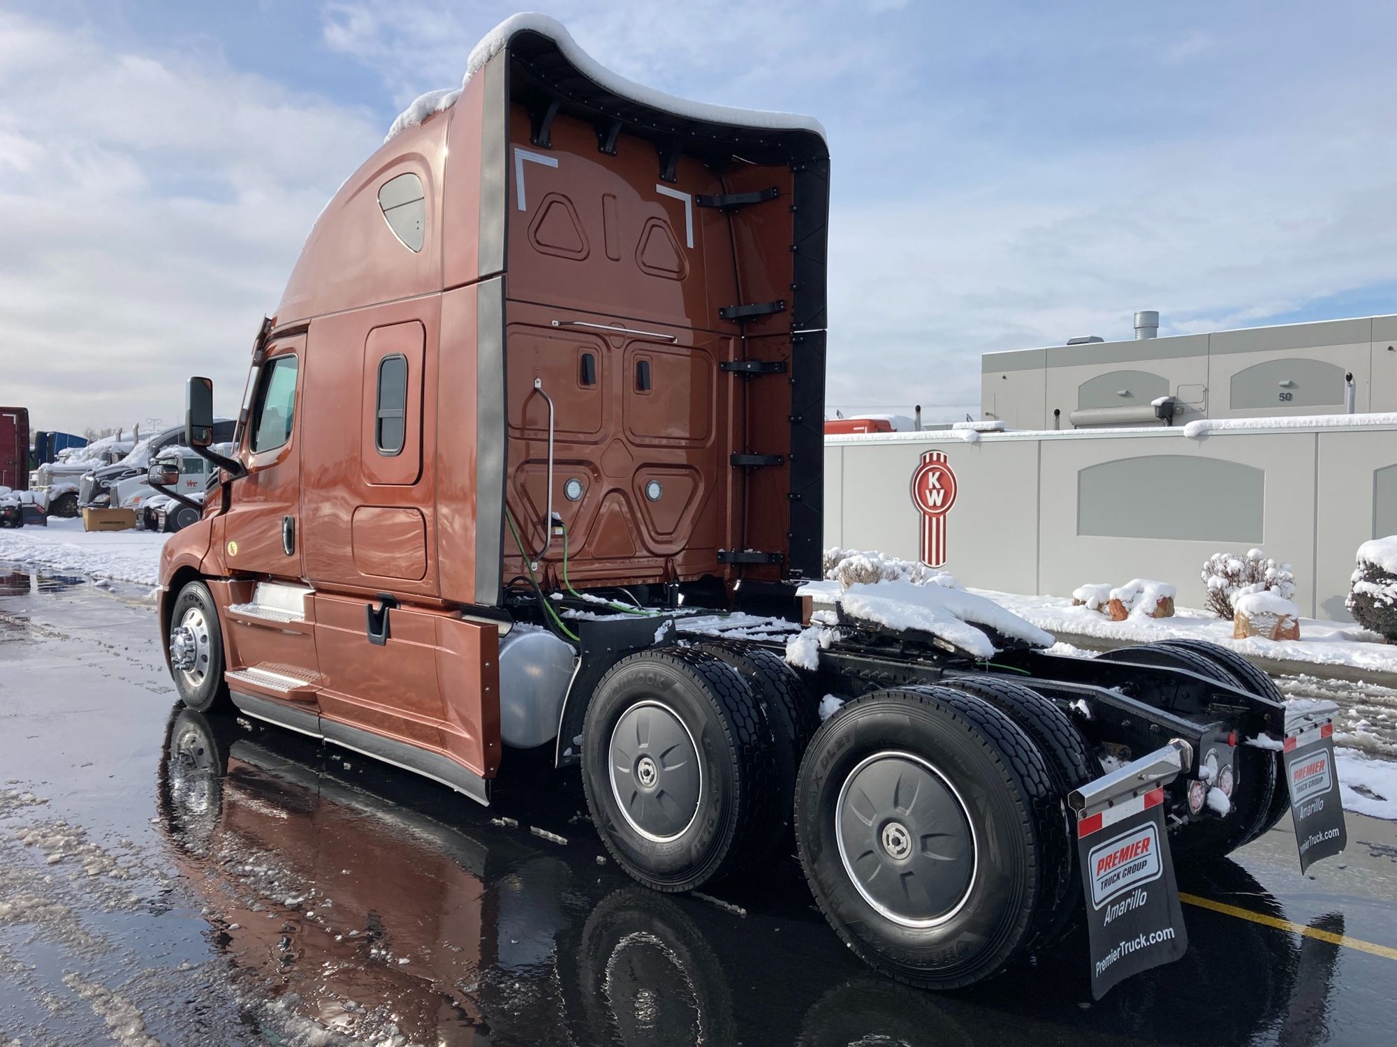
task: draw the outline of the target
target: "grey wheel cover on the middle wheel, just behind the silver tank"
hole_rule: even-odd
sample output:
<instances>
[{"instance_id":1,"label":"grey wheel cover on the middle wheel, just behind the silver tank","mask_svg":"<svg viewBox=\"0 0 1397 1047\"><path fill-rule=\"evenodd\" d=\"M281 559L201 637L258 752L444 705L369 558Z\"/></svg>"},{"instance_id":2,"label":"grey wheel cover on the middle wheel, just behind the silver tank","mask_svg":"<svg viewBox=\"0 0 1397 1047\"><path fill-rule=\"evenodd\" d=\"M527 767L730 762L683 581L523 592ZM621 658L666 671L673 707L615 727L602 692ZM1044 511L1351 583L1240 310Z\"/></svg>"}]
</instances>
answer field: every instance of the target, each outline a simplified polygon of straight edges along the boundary
<instances>
[{"instance_id":1,"label":"grey wheel cover on the middle wheel, just behind the silver tank","mask_svg":"<svg viewBox=\"0 0 1397 1047\"><path fill-rule=\"evenodd\" d=\"M666 705L638 702L622 713L609 747L610 785L630 826L647 839L676 839L698 815L698 747Z\"/></svg>"}]
</instances>

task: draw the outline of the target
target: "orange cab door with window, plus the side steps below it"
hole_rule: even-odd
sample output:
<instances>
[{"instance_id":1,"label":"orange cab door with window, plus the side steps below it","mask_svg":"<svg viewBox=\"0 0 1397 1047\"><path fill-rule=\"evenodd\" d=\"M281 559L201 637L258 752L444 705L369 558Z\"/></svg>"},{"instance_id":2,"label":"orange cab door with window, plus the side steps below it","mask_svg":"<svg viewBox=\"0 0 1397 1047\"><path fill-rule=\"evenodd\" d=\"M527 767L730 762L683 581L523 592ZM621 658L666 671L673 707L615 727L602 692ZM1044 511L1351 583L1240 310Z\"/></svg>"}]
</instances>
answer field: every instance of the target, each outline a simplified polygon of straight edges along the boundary
<instances>
[{"instance_id":1,"label":"orange cab door with window, plus the side steps below it","mask_svg":"<svg viewBox=\"0 0 1397 1047\"><path fill-rule=\"evenodd\" d=\"M268 348L237 450L247 475L232 482L229 510L214 532L232 575L215 592L228 638L228 687L244 709L279 722L295 718L258 713L256 704L291 704L313 716L319 694L299 528L305 343L298 335Z\"/></svg>"}]
</instances>

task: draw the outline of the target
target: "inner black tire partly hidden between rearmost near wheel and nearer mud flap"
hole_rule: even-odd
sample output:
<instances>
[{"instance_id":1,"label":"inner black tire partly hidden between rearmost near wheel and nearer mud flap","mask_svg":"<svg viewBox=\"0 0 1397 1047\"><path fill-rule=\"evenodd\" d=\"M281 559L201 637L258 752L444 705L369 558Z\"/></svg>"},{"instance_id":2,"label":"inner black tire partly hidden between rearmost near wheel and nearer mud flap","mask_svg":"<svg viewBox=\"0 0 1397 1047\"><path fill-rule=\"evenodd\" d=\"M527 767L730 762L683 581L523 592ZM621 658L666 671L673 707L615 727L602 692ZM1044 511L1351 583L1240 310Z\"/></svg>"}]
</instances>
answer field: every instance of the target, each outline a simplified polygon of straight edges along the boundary
<instances>
[{"instance_id":1,"label":"inner black tire partly hidden between rearmost near wheel and nearer mud flap","mask_svg":"<svg viewBox=\"0 0 1397 1047\"><path fill-rule=\"evenodd\" d=\"M1101 761L1097 759L1087 740L1081 737L1081 732L1067 719L1067 713L1017 680L978 674L950 677L943 683L946 687L954 687L957 691L967 691L985 699L1009 716L1032 740L1048 765L1059 818L1052 826L1045 826L1045 832L1056 832L1058 825L1062 826L1063 842L1060 846L1066 849L1069 860L1059 870L1058 882L1045 885L1053 899L1053 914L1041 928L1032 946L1062 941L1062 937L1081 914L1081 874L1077 866L1077 849L1073 846L1076 819L1067 804L1067 794L1073 789L1101 778Z\"/></svg>"}]
</instances>

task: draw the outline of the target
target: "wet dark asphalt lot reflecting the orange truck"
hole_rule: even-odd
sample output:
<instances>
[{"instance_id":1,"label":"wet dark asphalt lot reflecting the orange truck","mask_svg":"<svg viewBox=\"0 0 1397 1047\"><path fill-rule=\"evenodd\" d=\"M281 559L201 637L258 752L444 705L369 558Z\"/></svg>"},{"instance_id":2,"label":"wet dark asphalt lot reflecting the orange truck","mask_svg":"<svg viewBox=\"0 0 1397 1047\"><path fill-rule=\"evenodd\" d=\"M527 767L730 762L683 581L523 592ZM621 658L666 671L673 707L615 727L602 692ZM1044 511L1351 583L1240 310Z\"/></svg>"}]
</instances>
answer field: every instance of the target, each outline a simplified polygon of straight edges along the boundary
<instances>
[{"instance_id":1,"label":"wet dark asphalt lot reflecting the orange truck","mask_svg":"<svg viewBox=\"0 0 1397 1047\"><path fill-rule=\"evenodd\" d=\"M1289 819L1180 870L1187 955L1101 1002L1080 937L936 995L851 956L793 859L633 885L546 762L486 810L182 712L141 596L0 567L0 1046L1393 1041L1397 824L1348 815L1309 877Z\"/></svg>"}]
</instances>

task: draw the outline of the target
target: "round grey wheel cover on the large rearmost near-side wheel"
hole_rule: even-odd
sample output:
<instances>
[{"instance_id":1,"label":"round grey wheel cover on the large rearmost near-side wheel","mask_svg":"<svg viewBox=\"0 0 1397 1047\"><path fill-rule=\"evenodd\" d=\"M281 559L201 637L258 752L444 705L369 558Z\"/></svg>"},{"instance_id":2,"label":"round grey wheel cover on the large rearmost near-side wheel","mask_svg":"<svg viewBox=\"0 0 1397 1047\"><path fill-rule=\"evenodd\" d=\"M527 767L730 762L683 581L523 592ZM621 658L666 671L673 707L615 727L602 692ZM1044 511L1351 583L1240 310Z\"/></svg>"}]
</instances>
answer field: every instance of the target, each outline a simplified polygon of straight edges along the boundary
<instances>
[{"instance_id":1,"label":"round grey wheel cover on the large rearmost near-side wheel","mask_svg":"<svg viewBox=\"0 0 1397 1047\"><path fill-rule=\"evenodd\" d=\"M834 836L859 896L902 927L939 927L975 889L970 810L946 775L911 752L875 752L845 776Z\"/></svg>"}]
</instances>

